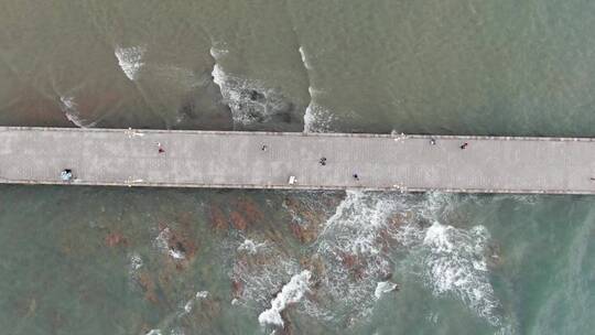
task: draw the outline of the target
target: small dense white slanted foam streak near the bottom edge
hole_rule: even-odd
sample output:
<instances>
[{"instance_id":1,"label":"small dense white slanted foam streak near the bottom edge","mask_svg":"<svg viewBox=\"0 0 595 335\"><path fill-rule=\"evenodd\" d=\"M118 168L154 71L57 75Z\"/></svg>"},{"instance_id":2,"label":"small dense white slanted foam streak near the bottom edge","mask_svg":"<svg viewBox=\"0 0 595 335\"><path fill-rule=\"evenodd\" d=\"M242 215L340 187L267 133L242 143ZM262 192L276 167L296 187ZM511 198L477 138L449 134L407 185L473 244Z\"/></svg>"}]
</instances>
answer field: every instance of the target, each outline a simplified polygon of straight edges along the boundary
<instances>
[{"instance_id":1,"label":"small dense white slanted foam streak near the bottom edge","mask_svg":"<svg viewBox=\"0 0 595 335\"><path fill-rule=\"evenodd\" d=\"M312 273L307 270L303 270L299 274L291 278L281 292L271 301L271 307L260 313L258 322L261 325L277 325L283 326L283 318L281 312L289 305L299 302L310 289L310 278Z\"/></svg>"}]
</instances>

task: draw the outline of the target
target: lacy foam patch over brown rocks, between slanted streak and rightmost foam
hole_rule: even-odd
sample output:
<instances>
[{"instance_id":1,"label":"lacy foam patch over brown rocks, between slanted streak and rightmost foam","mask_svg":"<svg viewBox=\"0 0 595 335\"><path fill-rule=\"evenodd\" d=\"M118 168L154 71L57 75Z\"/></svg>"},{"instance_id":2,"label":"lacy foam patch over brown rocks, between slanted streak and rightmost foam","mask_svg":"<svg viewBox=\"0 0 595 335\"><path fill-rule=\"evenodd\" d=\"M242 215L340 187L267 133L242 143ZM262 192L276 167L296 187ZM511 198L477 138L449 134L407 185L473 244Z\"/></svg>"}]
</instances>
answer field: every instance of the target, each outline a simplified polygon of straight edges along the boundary
<instances>
[{"instance_id":1,"label":"lacy foam patch over brown rocks, between slanted streak and rightmost foam","mask_svg":"<svg viewBox=\"0 0 595 335\"><path fill-rule=\"evenodd\" d=\"M316 295L349 310L348 325L371 314L378 280L392 271L389 255L382 250L386 235L397 228L389 217L402 209L394 195L347 191L345 199L325 224L316 241L316 257L323 262ZM357 279L354 280L354 271ZM335 309L310 305L311 314L338 322ZM345 321L344 321L345 322Z\"/></svg>"}]
</instances>

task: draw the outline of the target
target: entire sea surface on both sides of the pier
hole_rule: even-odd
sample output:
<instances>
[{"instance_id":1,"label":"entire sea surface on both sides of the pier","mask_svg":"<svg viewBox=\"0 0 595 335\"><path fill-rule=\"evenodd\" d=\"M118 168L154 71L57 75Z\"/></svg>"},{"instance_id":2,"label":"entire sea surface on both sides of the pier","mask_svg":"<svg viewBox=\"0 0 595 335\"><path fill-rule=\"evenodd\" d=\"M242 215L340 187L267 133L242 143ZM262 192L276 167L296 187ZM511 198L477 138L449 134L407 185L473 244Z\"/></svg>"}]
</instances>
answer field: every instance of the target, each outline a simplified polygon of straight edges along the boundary
<instances>
[{"instance_id":1,"label":"entire sea surface on both sides of the pier","mask_svg":"<svg viewBox=\"0 0 595 335\"><path fill-rule=\"evenodd\" d=\"M3 0L0 125L595 137L595 2ZM591 334L595 197L0 186L0 333Z\"/></svg>"}]
</instances>

